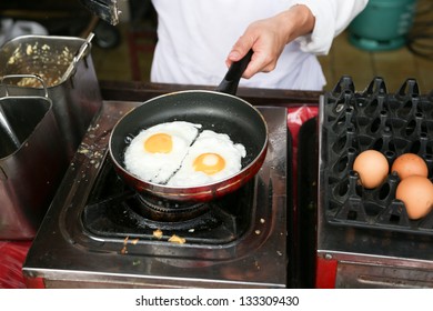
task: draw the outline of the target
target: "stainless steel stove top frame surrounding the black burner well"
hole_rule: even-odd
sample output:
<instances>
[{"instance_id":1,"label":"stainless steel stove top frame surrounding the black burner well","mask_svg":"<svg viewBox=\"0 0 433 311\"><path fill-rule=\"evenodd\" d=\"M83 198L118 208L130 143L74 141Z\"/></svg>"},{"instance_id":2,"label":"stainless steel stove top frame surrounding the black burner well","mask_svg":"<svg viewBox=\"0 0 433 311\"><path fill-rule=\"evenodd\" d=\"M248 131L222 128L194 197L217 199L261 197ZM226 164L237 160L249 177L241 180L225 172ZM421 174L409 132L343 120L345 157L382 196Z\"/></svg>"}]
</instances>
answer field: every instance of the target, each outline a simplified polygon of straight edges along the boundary
<instances>
[{"instance_id":1,"label":"stainless steel stove top frame surrounding the black burner well","mask_svg":"<svg viewBox=\"0 0 433 311\"><path fill-rule=\"evenodd\" d=\"M260 108L270 146L254 179L249 230L225 244L99 237L85 232L81 212L108 150L110 131L137 102L105 101L89 128L23 264L26 278L62 288L284 288L286 254L285 108ZM134 242L132 242L134 241Z\"/></svg>"}]
</instances>

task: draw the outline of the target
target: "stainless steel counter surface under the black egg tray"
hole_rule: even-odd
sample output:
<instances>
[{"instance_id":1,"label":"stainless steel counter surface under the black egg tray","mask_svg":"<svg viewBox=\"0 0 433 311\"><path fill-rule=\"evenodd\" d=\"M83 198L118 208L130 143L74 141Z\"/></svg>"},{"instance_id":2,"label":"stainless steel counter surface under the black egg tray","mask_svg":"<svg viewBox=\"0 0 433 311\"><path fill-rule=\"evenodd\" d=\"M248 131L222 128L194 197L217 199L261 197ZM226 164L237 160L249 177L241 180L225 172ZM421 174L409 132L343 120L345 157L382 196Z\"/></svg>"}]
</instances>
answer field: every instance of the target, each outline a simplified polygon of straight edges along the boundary
<instances>
[{"instance_id":1,"label":"stainless steel counter surface under the black egg tray","mask_svg":"<svg viewBox=\"0 0 433 311\"><path fill-rule=\"evenodd\" d=\"M433 237L420 233L393 232L390 230L371 230L349 225L330 224L325 219L323 205L325 169L325 143L321 124L324 122L324 98L319 107L319 192L318 192L318 257L336 261L339 264L336 287L364 287L373 283L360 283L364 269L370 269L369 278L384 282L384 271L394 271L392 282L386 287L432 287ZM348 268L352 265L352 268ZM360 269L362 267L362 269ZM400 270L400 271L397 271ZM420 272L421 271L421 272ZM423 274L423 273L425 274ZM320 271L319 271L320 273ZM387 273L387 272L386 272ZM415 282L413 275L425 275ZM318 275L320 278L320 275ZM412 280L410 283L407 280ZM384 285L384 284L382 284Z\"/></svg>"}]
</instances>

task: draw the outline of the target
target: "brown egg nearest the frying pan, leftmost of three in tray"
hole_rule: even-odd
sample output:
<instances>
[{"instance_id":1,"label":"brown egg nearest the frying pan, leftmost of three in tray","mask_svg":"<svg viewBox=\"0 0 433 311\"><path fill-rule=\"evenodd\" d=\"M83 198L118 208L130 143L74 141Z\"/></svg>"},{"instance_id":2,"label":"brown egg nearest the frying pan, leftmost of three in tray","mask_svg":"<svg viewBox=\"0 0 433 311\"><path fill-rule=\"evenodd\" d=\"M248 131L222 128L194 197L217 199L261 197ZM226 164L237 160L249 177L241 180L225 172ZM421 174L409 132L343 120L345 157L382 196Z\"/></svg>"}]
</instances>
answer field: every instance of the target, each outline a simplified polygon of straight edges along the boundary
<instances>
[{"instance_id":1,"label":"brown egg nearest the frying pan, leftmost of three in tray","mask_svg":"<svg viewBox=\"0 0 433 311\"><path fill-rule=\"evenodd\" d=\"M385 156L376 150L365 150L358 154L353 170L360 174L362 187L373 189L382 184L390 171Z\"/></svg>"}]
</instances>

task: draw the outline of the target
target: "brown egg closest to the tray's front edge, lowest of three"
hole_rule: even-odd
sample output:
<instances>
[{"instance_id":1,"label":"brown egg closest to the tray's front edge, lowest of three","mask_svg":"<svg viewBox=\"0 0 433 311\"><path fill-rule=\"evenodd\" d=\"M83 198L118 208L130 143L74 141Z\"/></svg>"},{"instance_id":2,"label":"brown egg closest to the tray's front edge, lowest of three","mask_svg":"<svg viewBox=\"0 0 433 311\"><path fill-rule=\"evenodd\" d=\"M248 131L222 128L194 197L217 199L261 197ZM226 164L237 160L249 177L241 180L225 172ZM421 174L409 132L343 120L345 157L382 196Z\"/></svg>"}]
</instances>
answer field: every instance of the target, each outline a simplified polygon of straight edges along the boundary
<instances>
[{"instance_id":1,"label":"brown egg closest to the tray's front edge, lowest of three","mask_svg":"<svg viewBox=\"0 0 433 311\"><path fill-rule=\"evenodd\" d=\"M407 177L399 183L395 198L403 201L410 219L423 218L433 208L433 183L425 177Z\"/></svg>"}]
</instances>

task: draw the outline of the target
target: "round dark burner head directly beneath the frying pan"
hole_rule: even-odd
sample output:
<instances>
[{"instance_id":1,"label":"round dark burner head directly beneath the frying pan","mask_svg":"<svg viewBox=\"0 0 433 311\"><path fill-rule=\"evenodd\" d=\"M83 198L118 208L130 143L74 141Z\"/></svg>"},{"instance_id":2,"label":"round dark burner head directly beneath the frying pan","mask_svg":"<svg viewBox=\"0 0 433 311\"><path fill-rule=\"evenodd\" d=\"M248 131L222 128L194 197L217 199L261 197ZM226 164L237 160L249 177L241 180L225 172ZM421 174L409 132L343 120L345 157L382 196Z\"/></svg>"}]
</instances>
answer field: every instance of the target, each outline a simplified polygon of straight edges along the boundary
<instances>
[{"instance_id":1,"label":"round dark burner head directly beneath the frying pan","mask_svg":"<svg viewBox=\"0 0 433 311\"><path fill-rule=\"evenodd\" d=\"M153 195L137 195L139 204L135 211L144 218L155 221L184 221L209 212L209 205L202 202L175 202L162 200Z\"/></svg>"}]
</instances>

